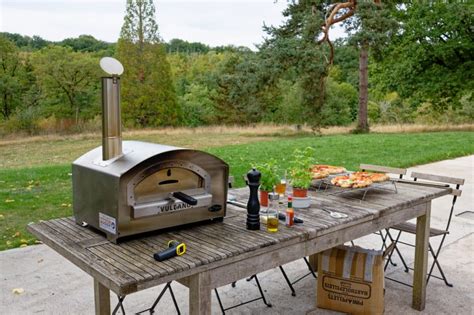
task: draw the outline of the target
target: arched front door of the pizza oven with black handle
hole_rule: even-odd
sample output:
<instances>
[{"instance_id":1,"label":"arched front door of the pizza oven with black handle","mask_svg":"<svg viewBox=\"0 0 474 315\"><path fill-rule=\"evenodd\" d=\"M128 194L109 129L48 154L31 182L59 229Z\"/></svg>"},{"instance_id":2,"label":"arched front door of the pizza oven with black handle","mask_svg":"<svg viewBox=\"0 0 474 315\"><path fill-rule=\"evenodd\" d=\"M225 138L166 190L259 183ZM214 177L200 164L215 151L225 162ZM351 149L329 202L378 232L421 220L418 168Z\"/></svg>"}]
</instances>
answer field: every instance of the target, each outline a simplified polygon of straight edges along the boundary
<instances>
[{"instance_id":1,"label":"arched front door of the pizza oven with black handle","mask_svg":"<svg viewBox=\"0 0 474 315\"><path fill-rule=\"evenodd\" d=\"M133 218L208 207L212 203L211 177L189 161L167 161L149 167L127 186Z\"/></svg>"}]
</instances>

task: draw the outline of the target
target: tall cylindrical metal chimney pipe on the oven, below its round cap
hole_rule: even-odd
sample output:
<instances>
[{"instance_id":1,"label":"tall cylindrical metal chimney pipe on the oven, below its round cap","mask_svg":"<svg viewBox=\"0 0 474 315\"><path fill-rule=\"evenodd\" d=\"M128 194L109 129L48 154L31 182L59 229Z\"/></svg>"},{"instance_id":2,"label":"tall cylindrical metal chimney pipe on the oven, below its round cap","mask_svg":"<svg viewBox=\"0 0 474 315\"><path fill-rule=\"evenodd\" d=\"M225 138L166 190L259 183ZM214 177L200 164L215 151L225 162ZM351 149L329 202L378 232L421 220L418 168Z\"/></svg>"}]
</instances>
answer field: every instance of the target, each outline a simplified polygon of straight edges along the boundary
<instances>
[{"instance_id":1,"label":"tall cylindrical metal chimney pipe on the oven, below its round cap","mask_svg":"<svg viewBox=\"0 0 474 315\"><path fill-rule=\"evenodd\" d=\"M102 160L122 155L120 78L102 77Z\"/></svg>"}]
</instances>

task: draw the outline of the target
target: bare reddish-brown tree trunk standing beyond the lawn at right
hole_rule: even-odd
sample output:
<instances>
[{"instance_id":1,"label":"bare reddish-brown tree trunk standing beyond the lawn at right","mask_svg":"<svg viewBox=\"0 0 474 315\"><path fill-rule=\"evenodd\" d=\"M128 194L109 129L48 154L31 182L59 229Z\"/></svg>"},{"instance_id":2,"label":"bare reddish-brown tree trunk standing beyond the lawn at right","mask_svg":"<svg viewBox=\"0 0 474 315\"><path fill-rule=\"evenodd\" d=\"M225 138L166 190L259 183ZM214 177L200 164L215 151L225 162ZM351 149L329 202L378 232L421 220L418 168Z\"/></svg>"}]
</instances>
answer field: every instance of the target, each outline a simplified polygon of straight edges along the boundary
<instances>
[{"instance_id":1,"label":"bare reddish-brown tree trunk standing beyond the lawn at right","mask_svg":"<svg viewBox=\"0 0 474 315\"><path fill-rule=\"evenodd\" d=\"M369 73L368 73L368 47L363 44L359 55L359 121L357 130L361 132L369 131L367 122L367 102L369 96Z\"/></svg>"}]
</instances>

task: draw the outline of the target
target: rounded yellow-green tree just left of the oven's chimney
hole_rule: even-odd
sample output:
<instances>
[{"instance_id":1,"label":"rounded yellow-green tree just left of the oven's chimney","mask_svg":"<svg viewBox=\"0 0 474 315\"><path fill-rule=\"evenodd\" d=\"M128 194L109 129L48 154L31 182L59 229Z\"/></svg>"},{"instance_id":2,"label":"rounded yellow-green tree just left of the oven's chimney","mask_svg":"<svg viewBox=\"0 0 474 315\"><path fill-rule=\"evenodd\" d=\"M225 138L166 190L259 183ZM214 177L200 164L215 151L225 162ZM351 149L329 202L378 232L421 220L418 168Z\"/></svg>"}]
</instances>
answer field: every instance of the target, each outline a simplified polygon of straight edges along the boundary
<instances>
[{"instance_id":1,"label":"rounded yellow-green tree just left of the oven's chimney","mask_svg":"<svg viewBox=\"0 0 474 315\"><path fill-rule=\"evenodd\" d=\"M47 104L50 114L74 117L77 124L85 109L97 105L98 63L97 58L60 46L43 48L33 56L38 83L52 103Z\"/></svg>"}]
</instances>

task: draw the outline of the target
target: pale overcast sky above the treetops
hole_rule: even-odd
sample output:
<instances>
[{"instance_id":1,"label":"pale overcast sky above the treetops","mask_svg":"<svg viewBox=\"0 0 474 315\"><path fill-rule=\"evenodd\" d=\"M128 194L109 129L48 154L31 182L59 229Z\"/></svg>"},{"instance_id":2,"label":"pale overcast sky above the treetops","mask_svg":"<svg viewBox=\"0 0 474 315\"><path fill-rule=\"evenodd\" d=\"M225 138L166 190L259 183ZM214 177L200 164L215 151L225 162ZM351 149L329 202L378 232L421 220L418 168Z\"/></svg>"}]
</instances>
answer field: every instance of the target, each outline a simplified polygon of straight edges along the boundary
<instances>
[{"instance_id":1,"label":"pale overcast sky above the treetops","mask_svg":"<svg viewBox=\"0 0 474 315\"><path fill-rule=\"evenodd\" d=\"M125 0L0 0L0 31L60 41L82 34L117 41ZM154 0L160 36L255 49L263 23L283 23L286 0ZM332 38L338 37L335 30Z\"/></svg>"}]
</instances>

